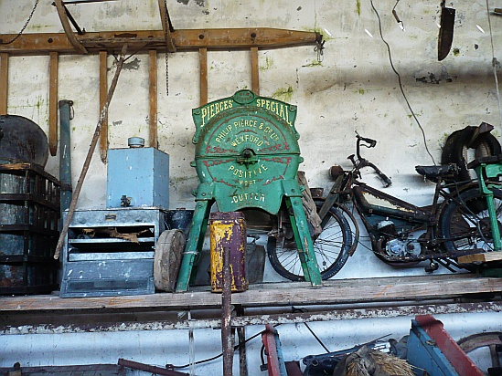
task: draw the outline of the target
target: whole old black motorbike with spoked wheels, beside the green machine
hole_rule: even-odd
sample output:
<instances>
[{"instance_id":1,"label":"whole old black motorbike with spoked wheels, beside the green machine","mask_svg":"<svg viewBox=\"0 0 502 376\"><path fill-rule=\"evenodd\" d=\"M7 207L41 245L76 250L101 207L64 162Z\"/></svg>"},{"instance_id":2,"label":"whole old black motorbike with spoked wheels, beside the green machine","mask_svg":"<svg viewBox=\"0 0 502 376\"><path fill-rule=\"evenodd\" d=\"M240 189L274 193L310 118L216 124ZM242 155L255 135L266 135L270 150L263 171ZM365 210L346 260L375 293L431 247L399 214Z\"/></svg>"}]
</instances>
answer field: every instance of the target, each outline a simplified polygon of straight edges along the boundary
<instances>
[{"instance_id":1,"label":"whole old black motorbike with spoked wheels, beside the green machine","mask_svg":"<svg viewBox=\"0 0 502 376\"><path fill-rule=\"evenodd\" d=\"M331 167L335 183L326 197L319 189L311 190L322 226L322 232L313 239L323 279L335 276L355 252L359 244L356 214L368 233L372 252L391 266L427 261L428 272L440 265L451 271L470 269L472 265L459 264L457 257L493 250L486 195L479 191L476 181L458 182L455 177L459 167L455 163L416 166L416 172L435 183L432 204L416 206L361 182L360 171L368 167L385 187L391 184L388 176L361 156L361 147L374 148L376 144L357 134L356 155L348 157L352 169ZM493 189L493 203L500 227L502 190L498 187ZM283 234L287 231L268 238L271 265L285 278L304 280L296 246Z\"/></svg>"}]
</instances>

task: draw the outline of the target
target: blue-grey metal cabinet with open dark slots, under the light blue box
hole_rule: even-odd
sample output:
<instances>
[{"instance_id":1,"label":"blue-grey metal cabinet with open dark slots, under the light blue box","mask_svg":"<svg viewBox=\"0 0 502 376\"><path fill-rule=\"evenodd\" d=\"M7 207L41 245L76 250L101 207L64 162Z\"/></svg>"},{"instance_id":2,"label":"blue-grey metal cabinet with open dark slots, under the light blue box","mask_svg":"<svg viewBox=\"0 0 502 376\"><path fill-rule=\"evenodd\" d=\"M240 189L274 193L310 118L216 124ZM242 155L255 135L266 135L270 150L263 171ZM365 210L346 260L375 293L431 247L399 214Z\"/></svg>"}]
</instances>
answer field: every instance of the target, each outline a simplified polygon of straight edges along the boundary
<instances>
[{"instance_id":1,"label":"blue-grey metal cabinet with open dark slots, under the light blue box","mask_svg":"<svg viewBox=\"0 0 502 376\"><path fill-rule=\"evenodd\" d=\"M75 211L60 297L153 294L155 246L167 225L166 211L156 207Z\"/></svg>"}]
</instances>

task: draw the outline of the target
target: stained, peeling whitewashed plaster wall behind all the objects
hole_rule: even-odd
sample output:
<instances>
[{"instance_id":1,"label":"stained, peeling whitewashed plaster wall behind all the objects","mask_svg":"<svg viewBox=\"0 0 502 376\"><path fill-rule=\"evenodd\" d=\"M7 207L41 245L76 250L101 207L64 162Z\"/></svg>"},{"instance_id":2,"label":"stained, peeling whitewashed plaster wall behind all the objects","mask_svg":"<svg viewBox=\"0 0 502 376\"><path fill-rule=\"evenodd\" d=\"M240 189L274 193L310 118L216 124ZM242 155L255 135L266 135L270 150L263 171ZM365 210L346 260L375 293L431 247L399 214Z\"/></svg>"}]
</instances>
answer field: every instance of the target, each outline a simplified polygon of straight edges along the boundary
<instances>
[{"instance_id":1,"label":"stained, peeling whitewashed plaster wall behind all the objects","mask_svg":"<svg viewBox=\"0 0 502 376\"><path fill-rule=\"evenodd\" d=\"M0 33L17 33L33 4L32 0L0 0ZM301 169L306 172L310 186L327 188L328 168L336 163L349 166L347 155L355 152L354 131L358 131L379 141L376 149L364 150L364 155L392 178L393 185L386 192L413 204L430 204L433 186L414 172L415 165L440 162L447 136L467 125L486 121L496 127L493 133L498 140L502 135L492 68L492 37L495 57L502 58L502 17L490 17L491 35L485 0L450 2L448 5L457 12L454 43L450 55L439 62L436 25L439 1L399 2L396 11L403 21L404 32L391 14L395 2L375 0L373 4L390 46L393 66L401 75L402 88L424 136L401 94L370 1L167 0L177 29L262 26L321 32L326 40L322 61L318 61L314 46L259 51L261 95L298 106L296 128L301 135L299 144L304 157ZM87 31L161 28L155 0L69 6ZM490 1L489 6L492 9L498 4ZM62 32L56 9L50 2L40 1L26 32ZM195 151L191 142L195 131L191 109L199 103L198 53L171 54L167 67L165 54L159 53L157 65L159 148L170 155L170 205L191 209L195 205L191 193L198 185L195 169L189 165ZM115 70L113 57L108 57L108 67L111 82ZM497 74L500 78L498 62ZM34 120L47 132L48 57L11 57L8 80L8 112ZM248 51L208 52L209 101L250 88ZM59 57L59 99L74 101L71 136L73 183L76 183L99 117L98 56ZM147 55L136 54L127 60L112 99L109 124L110 148L126 147L127 138L132 136L148 141ZM47 165L48 172L56 176L58 159L59 155L49 157ZM364 179L379 186L371 174ZM78 206L104 207L105 192L106 165L96 151ZM396 270L383 265L366 247L368 243L363 242L337 278L424 274L422 266ZM270 266L266 267L265 278L278 280ZM445 315L440 319L445 329L454 331L455 339L482 330L502 329L500 314ZM390 332L399 338L410 328L410 318L315 323L313 327L326 333L330 350L337 350ZM303 326L284 328L281 335L285 359L298 360L309 353L322 352ZM248 332L253 330L261 329L252 328ZM0 363L10 366L19 358L26 365L115 362L121 356L157 365L187 362L187 332L183 330L76 335L78 339L72 336L2 338ZM129 343L131 348L116 348L117 339ZM196 340L197 358L211 356L213 352L205 350L208 346L219 346L219 331L196 330ZM48 349L38 350L37 345L46 341L50 344ZM81 351L70 350L76 343L83 346ZM159 347L164 352L155 352ZM259 374L256 364L260 361L260 347L257 339L251 344L250 374ZM86 360L80 358L83 354L88 354ZM220 374L220 362L198 370L203 370L200 374Z\"/></svg>"}]
</instances>

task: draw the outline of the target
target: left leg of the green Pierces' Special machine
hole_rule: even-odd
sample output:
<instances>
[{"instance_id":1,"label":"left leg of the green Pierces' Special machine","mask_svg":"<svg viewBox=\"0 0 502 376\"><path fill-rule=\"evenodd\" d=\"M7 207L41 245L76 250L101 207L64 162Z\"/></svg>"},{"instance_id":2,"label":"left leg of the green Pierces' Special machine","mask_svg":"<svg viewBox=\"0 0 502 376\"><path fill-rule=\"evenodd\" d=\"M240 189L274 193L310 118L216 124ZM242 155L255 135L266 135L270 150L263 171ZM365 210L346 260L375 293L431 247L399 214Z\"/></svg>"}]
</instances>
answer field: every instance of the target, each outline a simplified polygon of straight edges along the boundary
<instances>
[{"instance_id":1,"label":"left leg of the green Pierces' Special machine","mask_svg":"<svg viewBox=\"0 0 502 376\"><path fill-rule=\"evenodd\" d=\"M179 268L176 292L183 292L188 289L192 270L197 263L197 257L204 244L204 236L208 228L208 218L211 206L212 202L209 201L199 201L196 205L192 226L188 234L187 245L185 246L185 252L183 253L183 259Z\"/></svg>"}]
</instances>

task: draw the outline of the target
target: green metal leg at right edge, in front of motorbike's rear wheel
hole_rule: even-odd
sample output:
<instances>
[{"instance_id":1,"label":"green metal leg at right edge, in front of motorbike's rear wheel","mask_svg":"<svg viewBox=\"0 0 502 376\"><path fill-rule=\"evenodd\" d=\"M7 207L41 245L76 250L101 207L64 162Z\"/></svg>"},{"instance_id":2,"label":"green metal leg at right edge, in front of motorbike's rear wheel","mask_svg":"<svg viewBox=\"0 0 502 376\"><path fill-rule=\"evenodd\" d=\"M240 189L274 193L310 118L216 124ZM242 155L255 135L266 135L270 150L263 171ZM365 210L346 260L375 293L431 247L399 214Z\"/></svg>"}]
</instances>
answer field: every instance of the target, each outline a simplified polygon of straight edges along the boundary
<instances>
[{"instance_id":1,"label":"green metal leg at right edge, in front of motorbike's rear wheel","mask_svg":"<svg viewBox=\"0 0 502 376\"><path fill-rule=\"evenodd\" d=\"M486 178L495 178L502 174L502 165L479 163L475 166L475 173L479 182L479 191L486 197L486 205L488 207L488 214L490 216L490 227L492 229L493 246L495 251L502 250L502 241L500 240L500 229L498 228L497 210L494 204L494 193L485 183Z\"/></svg>"}]
</instances>

